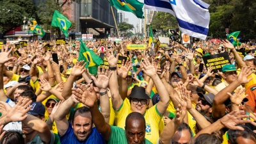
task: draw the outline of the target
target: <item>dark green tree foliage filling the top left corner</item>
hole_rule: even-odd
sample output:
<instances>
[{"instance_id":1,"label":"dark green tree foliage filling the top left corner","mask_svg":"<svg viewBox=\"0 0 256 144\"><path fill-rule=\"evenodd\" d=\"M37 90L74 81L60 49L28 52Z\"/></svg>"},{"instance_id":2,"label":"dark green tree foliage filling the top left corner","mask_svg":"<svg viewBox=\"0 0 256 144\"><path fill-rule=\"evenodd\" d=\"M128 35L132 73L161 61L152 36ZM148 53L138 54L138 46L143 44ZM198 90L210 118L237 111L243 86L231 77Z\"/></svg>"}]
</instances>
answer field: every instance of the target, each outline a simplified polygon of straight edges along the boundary
<instances>
[{"instance_id":1,"label":"dark green tree foliage filling the top left corner","mask_svg":"<svg viewBox=\"0 0 256 144\"><path fill-rule=\"evenodd\" d=\"M33 17L35 4L26 0L0 0L0 31L5 35L21 26L24 17Z\"/></svg>"}]
</instances>

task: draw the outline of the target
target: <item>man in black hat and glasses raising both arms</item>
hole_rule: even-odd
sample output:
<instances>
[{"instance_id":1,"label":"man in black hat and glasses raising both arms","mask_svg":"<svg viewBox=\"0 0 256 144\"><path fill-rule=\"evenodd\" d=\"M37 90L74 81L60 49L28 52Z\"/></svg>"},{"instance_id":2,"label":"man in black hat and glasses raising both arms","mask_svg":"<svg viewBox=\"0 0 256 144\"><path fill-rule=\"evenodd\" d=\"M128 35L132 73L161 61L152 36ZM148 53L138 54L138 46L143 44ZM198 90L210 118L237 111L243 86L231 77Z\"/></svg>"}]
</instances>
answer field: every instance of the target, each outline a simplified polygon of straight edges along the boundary
<instances>
[{"instance_id":1,"label":"man in black hat and glasses raising both arms","mask_svg":"<svg viewBox=\"0 0 256 144\"><path fill-rule=\"evenodd\" d=\"M156 68L148 61L141 61L143 66L143 72L149 76L154 84L156 85L157 92L161 99L159 102L148 109L149 99L148 95L145 92L145 88L134 86L132 92L129 95L130 100L122 100L118 92L118 81L116 74L116 64L118 58L115 58L113 54L106 54L109 62L109 70L113 72L112 76L109 79L109 88L112 95L113 108L115 109L116 114L116 125L125 129L125 118L129 113L138 112L144 115L146 121L146 136L147 140L152 143L156 143L159 138L159 122L166 111L166 108L169 104L169 96L164 84L161 82L161 79L157 76ZM124 74L127 74L125 72Z\"/></svg>"}]
</instances>

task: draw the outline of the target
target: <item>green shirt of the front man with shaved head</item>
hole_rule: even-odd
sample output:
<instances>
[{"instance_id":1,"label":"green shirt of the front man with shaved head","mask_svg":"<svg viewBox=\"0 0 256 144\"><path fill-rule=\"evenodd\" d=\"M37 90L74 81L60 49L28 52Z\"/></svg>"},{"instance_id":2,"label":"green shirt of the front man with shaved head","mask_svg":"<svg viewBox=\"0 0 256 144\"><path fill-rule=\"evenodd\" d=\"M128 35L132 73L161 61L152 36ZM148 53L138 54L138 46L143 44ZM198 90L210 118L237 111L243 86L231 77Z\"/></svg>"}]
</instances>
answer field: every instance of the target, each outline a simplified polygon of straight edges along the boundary
<instances>
[{"instance_id":1,"label":"green shirt of the front man with shaved head","mask_svg":"<svg viewBox=\"0 0 256 144\"><path fill-rule=\"evenodd\" d=\"M124 129L120 127L112 126L112 125L110 125L110 127L111 127L111 134L109 137L108 144L116 144L116 143L128 144ZM145 138L145 144L152 144L152 143Z\"/></svg>"}]
</instances>

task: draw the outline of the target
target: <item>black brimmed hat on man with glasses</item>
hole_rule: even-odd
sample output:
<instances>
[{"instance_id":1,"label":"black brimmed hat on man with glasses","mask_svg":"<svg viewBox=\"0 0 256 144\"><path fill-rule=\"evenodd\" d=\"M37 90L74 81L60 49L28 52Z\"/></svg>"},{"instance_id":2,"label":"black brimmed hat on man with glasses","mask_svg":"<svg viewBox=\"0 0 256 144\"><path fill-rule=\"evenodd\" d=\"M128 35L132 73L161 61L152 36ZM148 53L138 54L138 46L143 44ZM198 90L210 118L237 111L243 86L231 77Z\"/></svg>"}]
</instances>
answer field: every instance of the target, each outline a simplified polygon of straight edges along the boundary
<instances>
[{"instance_id":1,"label":"black brimmed hat on man with glasses","mask_svg":"<svg viewBox=\"0 0 256 144\"><path fill-rule=\"evenodd\" d=\"M150 97L148 97L145 88L140 87L140 86L134 86L132 88L132 92L129 95L129 97L131 98L136 98L136 99L150 99Z\"/></svg>"}]
</instances>

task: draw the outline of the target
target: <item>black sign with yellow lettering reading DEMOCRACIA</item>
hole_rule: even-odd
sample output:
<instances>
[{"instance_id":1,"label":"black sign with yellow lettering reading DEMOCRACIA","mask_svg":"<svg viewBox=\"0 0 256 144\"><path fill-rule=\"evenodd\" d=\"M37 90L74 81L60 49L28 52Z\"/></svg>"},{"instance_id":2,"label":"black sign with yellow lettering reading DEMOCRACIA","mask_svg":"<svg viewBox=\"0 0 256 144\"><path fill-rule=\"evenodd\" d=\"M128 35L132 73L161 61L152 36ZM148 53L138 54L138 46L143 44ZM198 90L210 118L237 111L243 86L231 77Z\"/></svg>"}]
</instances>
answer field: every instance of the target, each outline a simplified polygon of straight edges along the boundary
<instances>
[{"instance_id":1,"label":"black sign with yellow lettering reading DEMOCRACIA","mask_svg":"<svg viewBox=\"0 0 256 144\"><path fill-rule=\"evenodd\" d=\"M205 63L205 66L212 67L213 72L222 72L222 67L226 65L227 63L230 63L228 52L223 52L220 54L214 54L211 56L203 56L203 60Z\"/></svg>"}]
</instances>

